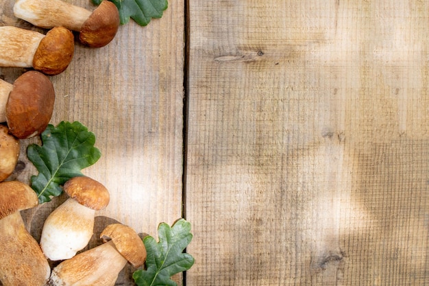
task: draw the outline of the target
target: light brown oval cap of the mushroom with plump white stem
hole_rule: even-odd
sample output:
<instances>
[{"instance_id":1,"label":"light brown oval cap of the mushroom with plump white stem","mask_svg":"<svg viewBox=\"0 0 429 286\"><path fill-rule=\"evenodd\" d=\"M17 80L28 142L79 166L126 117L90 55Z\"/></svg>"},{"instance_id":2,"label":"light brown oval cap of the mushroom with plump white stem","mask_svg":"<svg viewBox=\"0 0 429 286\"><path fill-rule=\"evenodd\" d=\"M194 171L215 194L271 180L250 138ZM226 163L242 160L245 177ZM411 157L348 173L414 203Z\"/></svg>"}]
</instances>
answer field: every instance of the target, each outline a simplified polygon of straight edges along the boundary
<instances>
[{"instance_id":1,"label":"light brown oval cap of the mushroom with plump white stem","mask_svg":"<svg viewBox=\"0 0 429 286\"><path fill-rule=\"evenodd\" d=\"M74 177L64 184L64 191L79 204L99 211L110 201L108 189L100 182L86 177Z\"/></svg>"}]
</instances>

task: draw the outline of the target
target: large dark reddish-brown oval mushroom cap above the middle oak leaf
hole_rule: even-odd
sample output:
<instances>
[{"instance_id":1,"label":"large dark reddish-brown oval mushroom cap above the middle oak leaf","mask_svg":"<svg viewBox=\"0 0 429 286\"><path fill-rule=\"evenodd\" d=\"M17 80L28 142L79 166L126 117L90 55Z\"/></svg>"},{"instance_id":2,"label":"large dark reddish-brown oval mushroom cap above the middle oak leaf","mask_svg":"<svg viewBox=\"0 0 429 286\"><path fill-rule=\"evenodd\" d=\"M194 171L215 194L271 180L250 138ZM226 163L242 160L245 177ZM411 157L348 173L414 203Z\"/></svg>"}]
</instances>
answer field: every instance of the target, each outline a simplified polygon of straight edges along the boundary
<instances>
[{"instance_id":1,"label":"large dark reddish-brown oval mushroom cap above the middle oak leaf","mask_svg":"<svg viewBox=\"0 0 429 286\"><path fill-rule=\"evenodd\" d=\"M6 103L10 133L27 139L42 133L52 117L55 91L49 78L38 71L27 71L17 78Z\"/></svg>"}]
</instances>

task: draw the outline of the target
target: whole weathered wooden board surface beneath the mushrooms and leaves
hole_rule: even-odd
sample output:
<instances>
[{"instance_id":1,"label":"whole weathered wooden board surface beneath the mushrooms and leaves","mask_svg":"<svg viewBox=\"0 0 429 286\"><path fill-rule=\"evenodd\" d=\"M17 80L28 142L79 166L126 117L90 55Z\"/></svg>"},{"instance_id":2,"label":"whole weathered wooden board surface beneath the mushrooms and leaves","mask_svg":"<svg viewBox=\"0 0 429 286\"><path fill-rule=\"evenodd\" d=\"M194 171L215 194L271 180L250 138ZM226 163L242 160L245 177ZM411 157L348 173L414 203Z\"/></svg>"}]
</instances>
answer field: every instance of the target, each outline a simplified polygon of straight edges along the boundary
<instances>
[{"instance_id":1,"label":"whole weathered wooden board surface beneath the mushrooms and leaves","mask_svg":"<svg viewBox=\"0 0 429 286\"><path fill-rule=\"evenodd\" d=\"M34 29L13 3L1 24ZM77 45L52 122L97 136L98 215L151 235L191 222L188 286L426 285L428 27L422 0L170 1ZM61 200L25 213L36 237Z\"/></svg>"}]
</instances>

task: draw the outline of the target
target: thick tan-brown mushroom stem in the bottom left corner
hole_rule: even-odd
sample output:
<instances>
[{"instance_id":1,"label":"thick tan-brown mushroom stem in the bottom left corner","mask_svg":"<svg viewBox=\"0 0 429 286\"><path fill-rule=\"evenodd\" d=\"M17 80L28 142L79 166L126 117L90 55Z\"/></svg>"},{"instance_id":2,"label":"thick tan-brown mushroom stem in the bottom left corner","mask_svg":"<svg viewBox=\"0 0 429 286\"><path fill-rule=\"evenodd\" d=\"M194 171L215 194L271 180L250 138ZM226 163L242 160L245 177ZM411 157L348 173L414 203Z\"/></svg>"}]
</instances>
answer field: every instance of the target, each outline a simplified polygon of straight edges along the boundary
<instances>
[{"instance_id":1,"label":"thick tan-brown mushroom stem in the bottom left corner","mask_svg":"<svg viewBox=\"0 0 429 286\"><path fill-rule=\"evenodd\" d=\"M0 280L3 286L45 285L51 268L19 211L0 220Z\"/></svg>"}]
</instances>

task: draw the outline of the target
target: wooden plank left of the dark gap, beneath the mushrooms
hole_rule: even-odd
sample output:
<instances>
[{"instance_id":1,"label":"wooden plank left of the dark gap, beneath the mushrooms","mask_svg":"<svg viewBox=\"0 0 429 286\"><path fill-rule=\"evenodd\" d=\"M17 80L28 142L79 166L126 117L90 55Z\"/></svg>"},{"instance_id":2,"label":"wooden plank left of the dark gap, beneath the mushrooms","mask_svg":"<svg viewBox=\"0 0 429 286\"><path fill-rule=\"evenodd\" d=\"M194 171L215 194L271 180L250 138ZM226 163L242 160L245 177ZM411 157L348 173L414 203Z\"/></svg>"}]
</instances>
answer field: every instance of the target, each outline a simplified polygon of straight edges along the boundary
<instances>
[{"instance_id":1,"label":"wooden plank left of the dark gap, beneath the mushrooms","mask_svg":"<svg viewBox=\"0 0 429 286\"><path fill-rule=\"evenodd\" d=\"M70 0L88 10L89 0ZM13 16L14 1L0 0L0 25L36 29ZM41 32L40 29L38 29ZM23 69L1 68L1 78L13 82ZM64 73L51 77L56 104L51 123L80 121L97 136L100 160L84 174L108 187L109 206L97 212L96 235L117 220L138 233L157 237L160 222L182 217L184 1L171 1L162 19L146 27L130 21L112 43L100 49L76 44ZM34 167L23 141L24 169L12 178L29 181ZM45 217L65 198L25 213L28 227L40 236ZM106 218L108 217L108 218ZM99 243L95 239L92 245ZM134 285L130 267L118 285Z\"/></svg>"}]
</instances>

